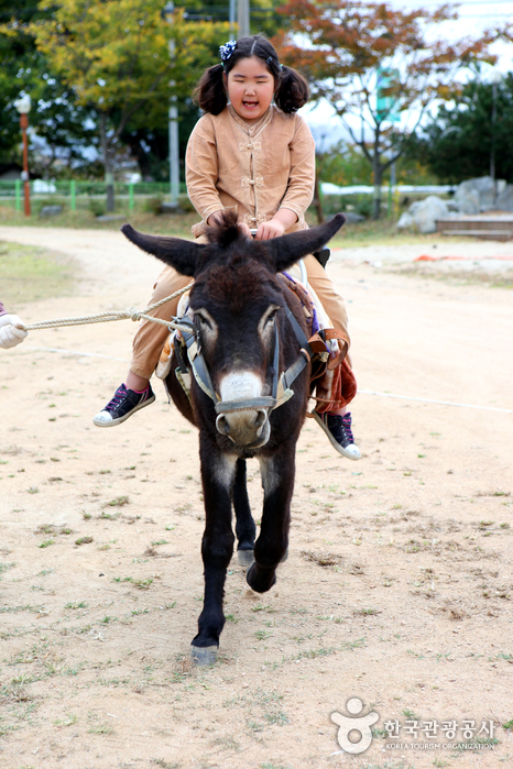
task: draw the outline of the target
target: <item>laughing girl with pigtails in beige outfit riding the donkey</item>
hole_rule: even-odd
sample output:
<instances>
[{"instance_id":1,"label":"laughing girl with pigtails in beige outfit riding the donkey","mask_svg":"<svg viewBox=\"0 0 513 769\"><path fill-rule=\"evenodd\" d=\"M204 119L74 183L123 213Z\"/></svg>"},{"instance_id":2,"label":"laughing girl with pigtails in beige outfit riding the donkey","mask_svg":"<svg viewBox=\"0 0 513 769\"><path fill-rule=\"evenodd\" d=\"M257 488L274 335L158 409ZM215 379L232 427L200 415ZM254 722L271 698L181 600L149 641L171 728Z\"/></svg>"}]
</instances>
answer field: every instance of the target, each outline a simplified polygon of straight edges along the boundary
<instances>
[{"instance_id":1,"label":"laughing girl with pigtails in beige outfit riding the donkey","mask_svg":"<svg viewBox=\"0 0 513 769\"><path fill-rule=\"evenodd\" d=\"M221 63L205 72L196 89L205 114L196 123L186 152L188 196L201 217L193 234L204 241L207 226L215 224L220 212L228 209L237 211L248 237L256 230L256 240L305 229L305 211L314 196L315 145L296 111L308 99L307 83L296 70L280 65L274 47L260 35L229 41L219 53ZM305 266L309 285L349 345L341 297L314 255L305 259ZM151 303L189 282L173 267L164 267ZM153 315L168 319L176 315L177 305L178 298L173 299ZM167 334L166 327L142 321L127 381L96 415L95 425L119 425L153 403L150 377ZM347 410L356 386L347 365L346 372L352 383L346 388L347 397L340 396L329 411L320 413L318 408L314 416L341 454L360 459Z\"/></svg>"}]
</instances>

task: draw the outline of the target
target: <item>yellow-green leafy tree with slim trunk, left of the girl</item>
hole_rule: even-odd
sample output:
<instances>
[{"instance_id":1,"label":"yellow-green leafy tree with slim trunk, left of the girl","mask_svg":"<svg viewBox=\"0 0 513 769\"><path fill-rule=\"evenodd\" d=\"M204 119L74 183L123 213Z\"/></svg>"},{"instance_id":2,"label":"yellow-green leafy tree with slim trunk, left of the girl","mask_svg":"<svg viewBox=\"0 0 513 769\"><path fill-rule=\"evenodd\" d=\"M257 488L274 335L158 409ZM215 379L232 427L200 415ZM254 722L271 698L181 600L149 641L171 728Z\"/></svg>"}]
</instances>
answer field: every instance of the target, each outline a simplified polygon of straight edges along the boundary
<instances>
[{"instance_id":1,"label":"yellow-green leafy tree with slim trunk, left of the girl","mask_svg":"<svg viewBox=\"0 0 513 769\"><path fill-rule=\"evenodd\" d=\"M153 0L59 0L51 19L30 25L37 50L77 103L95 114L109 211L121 134L129 124L137 130L166 121L170 83L177 97L188 95L211 63L214 41L227 34L227 24L187 22L183 11L172 22Z\"/></svg>"}]
</instances>

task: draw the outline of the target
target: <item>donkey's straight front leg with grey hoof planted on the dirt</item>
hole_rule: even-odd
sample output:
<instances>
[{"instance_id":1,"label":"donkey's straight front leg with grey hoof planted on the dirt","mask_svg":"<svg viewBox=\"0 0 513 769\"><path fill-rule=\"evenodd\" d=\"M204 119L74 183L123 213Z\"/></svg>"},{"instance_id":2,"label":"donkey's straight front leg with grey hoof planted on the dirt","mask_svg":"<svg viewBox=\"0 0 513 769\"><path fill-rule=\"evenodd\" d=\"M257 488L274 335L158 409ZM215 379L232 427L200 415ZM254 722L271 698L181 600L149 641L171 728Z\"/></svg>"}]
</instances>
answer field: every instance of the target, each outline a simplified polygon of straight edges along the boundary
<instances>
[{"instance_id":1,"label":"donkey's straight front leg with grey hoof planted on the dirt","mask_svg":"<svg viewBox=\"0 0 513 769\"><path fill-rule=\"evenodd\" d=\"M223 454L208 436L199 437L201 482L205 499L205 531L201 556L205 575L205 598L198 619L198 635L192 645L196 664L216 661L219 636L225 626L222 596L226 572L233 554L231 530L231 487L237 457Z\"/></svg>"}]
</instances>

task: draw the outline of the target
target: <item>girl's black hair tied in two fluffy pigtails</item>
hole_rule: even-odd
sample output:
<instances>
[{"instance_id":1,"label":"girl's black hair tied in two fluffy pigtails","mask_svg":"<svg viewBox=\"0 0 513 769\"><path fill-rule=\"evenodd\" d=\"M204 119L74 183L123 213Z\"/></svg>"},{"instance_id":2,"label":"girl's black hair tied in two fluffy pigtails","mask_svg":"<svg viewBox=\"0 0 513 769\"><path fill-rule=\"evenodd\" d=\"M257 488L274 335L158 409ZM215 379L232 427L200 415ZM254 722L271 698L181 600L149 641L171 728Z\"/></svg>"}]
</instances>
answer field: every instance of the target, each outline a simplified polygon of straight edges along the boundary
<instances>
[{"instance_id":1,"label":"girl's black hair tied in two fluffy pigtails","mask_svg":"<svg viewBox=\"0 0 513 769\"><path fill-rule=\"evenodd\" d=\"M228 77L230 70L241 58L258 56L274 78L274 101L284 112L296 112L299 107L308 101L308 84L296 69L280 64L277 54L272 44L262 35L241 37L222 64L216 64L205 70L195 91L194 99L204 112L219 114L228 103L228 95L225 88L223 75Z\"/></svg>"}]
</instances>

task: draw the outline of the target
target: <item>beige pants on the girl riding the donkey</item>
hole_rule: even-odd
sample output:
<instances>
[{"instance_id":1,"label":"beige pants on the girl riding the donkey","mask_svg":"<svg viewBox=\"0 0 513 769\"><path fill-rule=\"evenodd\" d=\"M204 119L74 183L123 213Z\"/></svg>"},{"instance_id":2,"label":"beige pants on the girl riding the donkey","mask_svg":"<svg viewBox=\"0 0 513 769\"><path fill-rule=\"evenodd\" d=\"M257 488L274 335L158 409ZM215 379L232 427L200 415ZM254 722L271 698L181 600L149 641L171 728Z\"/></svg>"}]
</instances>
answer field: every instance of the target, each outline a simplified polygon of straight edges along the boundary
<instances>
[{"instance_id":1,"label":"beige pants on the girl riding the donkey","mask_svg":"<svg viewBox=\"0 0 513 769\"><path fill-rule=\"evenodd\" d=\"M206 242L203 238L198 238L197 242ZM308 283L320 299L323 307L329 316L334 328L343 334L348 344L350 343L348 327L348 316L343 299L336 293L334 284L329 279L324 267L318 263L315 256L309 254L305 257L306 274ZM153 294L149 304L154 304L164 299L170 294L174 294L179 288L184 288L190 283L190 277L179 275L173 267L164 267L159 275ZM167 301L162 307L151 312L155 318L168 320L176 315L179 296L171 301ZM168 330L160 323L152 323L151 320L141 321L138 332L133 339L133 353L130 370L139 376L149 380L155 371L161 350L164 347L165 340L168 337ZM349 361L349 356L347 359Z\"/></svg>"}]
</instances>

